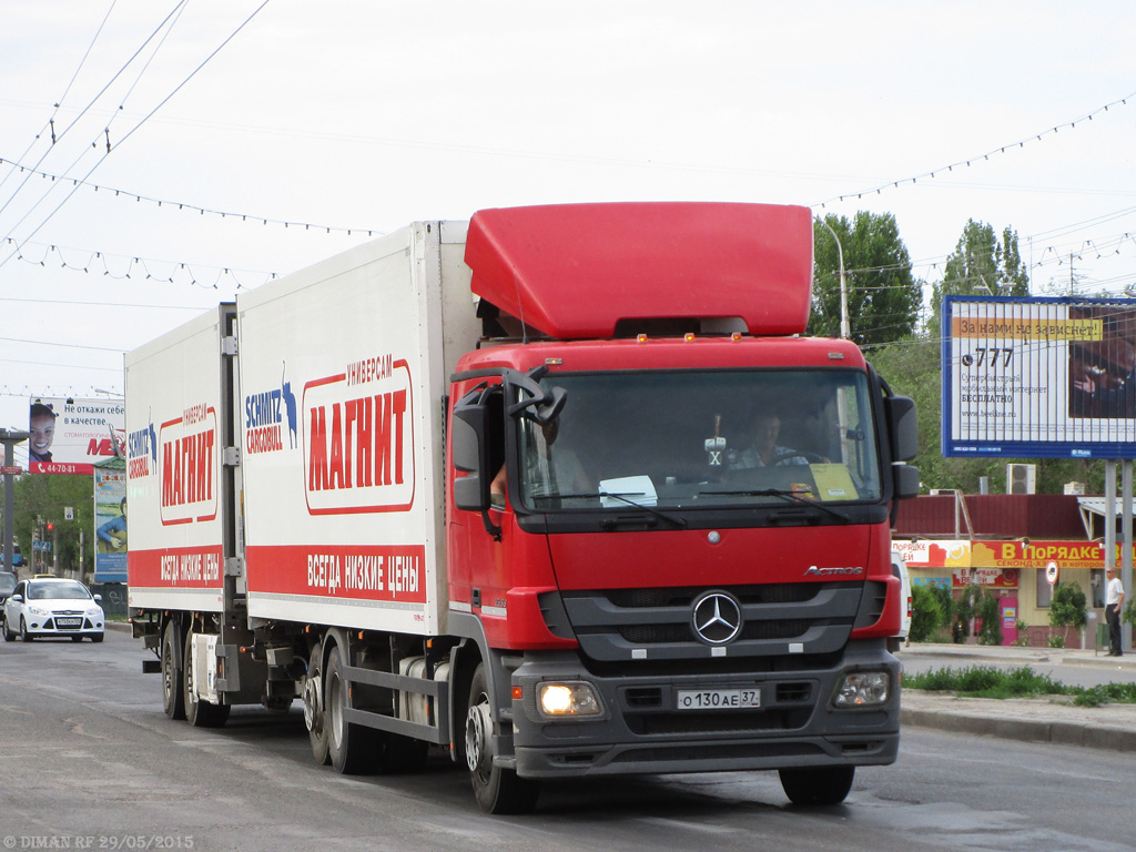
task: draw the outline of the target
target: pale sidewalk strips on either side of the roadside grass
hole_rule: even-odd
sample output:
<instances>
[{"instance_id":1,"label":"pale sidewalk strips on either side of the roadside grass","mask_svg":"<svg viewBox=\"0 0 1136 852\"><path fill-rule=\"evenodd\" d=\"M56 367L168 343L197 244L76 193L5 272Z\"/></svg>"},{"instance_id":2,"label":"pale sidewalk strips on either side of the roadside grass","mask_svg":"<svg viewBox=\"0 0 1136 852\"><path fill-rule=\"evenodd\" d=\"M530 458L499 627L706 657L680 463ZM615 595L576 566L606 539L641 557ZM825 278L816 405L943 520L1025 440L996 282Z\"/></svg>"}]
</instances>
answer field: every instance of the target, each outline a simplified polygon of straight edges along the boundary
<instances>
[{"instance_id":1,"label":"pale sidewalk strips on either side of the roadside grass","mask_svg":"<svg viewBox=\"0 0 1136 852\"><path fill-rule=\"evenodd\" d=\"M896 655L900 660L942 657L962 666L1094 666L1114 670L1117 682L1136 680L1136 653L1117 658L1092 650L912 643ZM1056 699L960 699L904 690L900 721L1006 740L1136 752L1136 704L1075 707Z\"/></svg>"}]
</instances>

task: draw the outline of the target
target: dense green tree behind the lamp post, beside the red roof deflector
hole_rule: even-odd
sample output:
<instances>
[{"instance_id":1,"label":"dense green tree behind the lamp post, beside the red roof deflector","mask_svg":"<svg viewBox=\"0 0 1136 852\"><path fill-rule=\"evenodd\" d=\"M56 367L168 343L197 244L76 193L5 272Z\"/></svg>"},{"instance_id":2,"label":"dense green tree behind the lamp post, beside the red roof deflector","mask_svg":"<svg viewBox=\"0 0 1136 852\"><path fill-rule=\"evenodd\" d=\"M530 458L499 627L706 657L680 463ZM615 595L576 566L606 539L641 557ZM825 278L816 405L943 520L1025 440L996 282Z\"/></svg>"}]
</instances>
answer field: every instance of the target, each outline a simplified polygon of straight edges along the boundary
<instances>
[{"instance_id":1,"label":"dense green tree behind the lamp post, beside the red roof deflector","mask_svg":"<svg viewBox=\"0 0 1136 852\"><path fill-rule=\"evenodd\" d=\"M812 233L816 287L809 334L841 333L841 265L833 233L844 252L852 340L886 343L914 332L922 286L911 274L911 257L892 214L861 210L851 222L829 214L813 222Z\"/></svg>"}]
</instances>

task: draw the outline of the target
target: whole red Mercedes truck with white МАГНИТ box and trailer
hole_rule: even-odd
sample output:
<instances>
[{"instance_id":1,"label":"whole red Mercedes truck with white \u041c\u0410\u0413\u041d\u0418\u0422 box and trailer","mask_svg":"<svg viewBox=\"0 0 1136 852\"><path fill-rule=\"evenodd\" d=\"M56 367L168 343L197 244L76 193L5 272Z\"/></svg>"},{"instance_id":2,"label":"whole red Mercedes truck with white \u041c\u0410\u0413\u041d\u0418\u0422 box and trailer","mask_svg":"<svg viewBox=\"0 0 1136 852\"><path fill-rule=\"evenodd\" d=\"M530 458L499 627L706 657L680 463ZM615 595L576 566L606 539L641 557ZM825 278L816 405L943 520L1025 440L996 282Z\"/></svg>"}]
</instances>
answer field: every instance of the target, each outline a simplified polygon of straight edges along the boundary
<instances>
[{"instance_id":1,"label":"whole red Mercedes truck with white \u041c\u0410\u0413\u041d\u0418\u0422 box and trailer","mask_svg":"<svg viewBox=\"0 0 1136 852\"><path fill-rule=\"evenodd\" d=\"M318 761L542 778L899 747L914 409L801 336L805 208L416 223L126 357L130 607L167 715L299 700Z\"/></svg>"}]
</instances>

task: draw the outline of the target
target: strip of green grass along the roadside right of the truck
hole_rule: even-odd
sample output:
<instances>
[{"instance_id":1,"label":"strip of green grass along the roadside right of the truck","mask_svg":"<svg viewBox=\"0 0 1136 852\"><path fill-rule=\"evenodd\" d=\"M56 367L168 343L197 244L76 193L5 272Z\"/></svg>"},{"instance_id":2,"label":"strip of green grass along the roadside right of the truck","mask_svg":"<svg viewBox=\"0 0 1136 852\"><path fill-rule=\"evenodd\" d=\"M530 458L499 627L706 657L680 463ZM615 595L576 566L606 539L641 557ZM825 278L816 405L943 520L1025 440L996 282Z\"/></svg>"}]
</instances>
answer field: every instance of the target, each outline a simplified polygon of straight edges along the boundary
<instances>
[{"instance_id":1,"label":"strip of green grass along the roadside right of the truck","mask_svg":"<svg viewBox=\"0 0 1136 852\"><path fill-rule=\"evenodd\" d=\"M1049 675L1039 675L1029 666L1011 669L999 669L993 666L941 668L920 675L904 675L903 685L909 690L953 692L972 699L1038 699L1067 695L1078 707L1136 704L1136 684L1067 686Z\"/></svg>"}]
</instances>

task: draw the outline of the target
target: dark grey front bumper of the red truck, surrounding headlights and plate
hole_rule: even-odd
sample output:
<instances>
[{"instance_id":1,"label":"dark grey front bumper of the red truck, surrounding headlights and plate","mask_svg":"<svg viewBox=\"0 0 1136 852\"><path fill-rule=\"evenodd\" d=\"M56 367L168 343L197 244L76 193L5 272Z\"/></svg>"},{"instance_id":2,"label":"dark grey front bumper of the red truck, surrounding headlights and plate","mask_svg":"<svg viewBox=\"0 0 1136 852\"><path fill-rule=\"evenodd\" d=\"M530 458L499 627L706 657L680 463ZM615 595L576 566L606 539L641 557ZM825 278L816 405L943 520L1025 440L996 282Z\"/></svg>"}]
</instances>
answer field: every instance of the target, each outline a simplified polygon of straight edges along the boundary
<instances>
[{"instance_id":1,"label":"dark grey front bumper of the red truck, surrounding headlights and plate","mask_svg":"<svg viewBox=\"0 0 1136 852\"><path fill-rule=\"evenodd\" d=\"M833 707L840 682L855 670L891 674L885 703ZM899 752L899 676L883 642L852 643L827 667L721 675L596 676L570 654L529 655L512 674L523 695L512 702L516 768L541 778L887 765ZM602 713L542 717L537 685L573 679L592 685ZM754 687L760 709L677 709L679 691Z\"/></svg>"}]
</instances>

